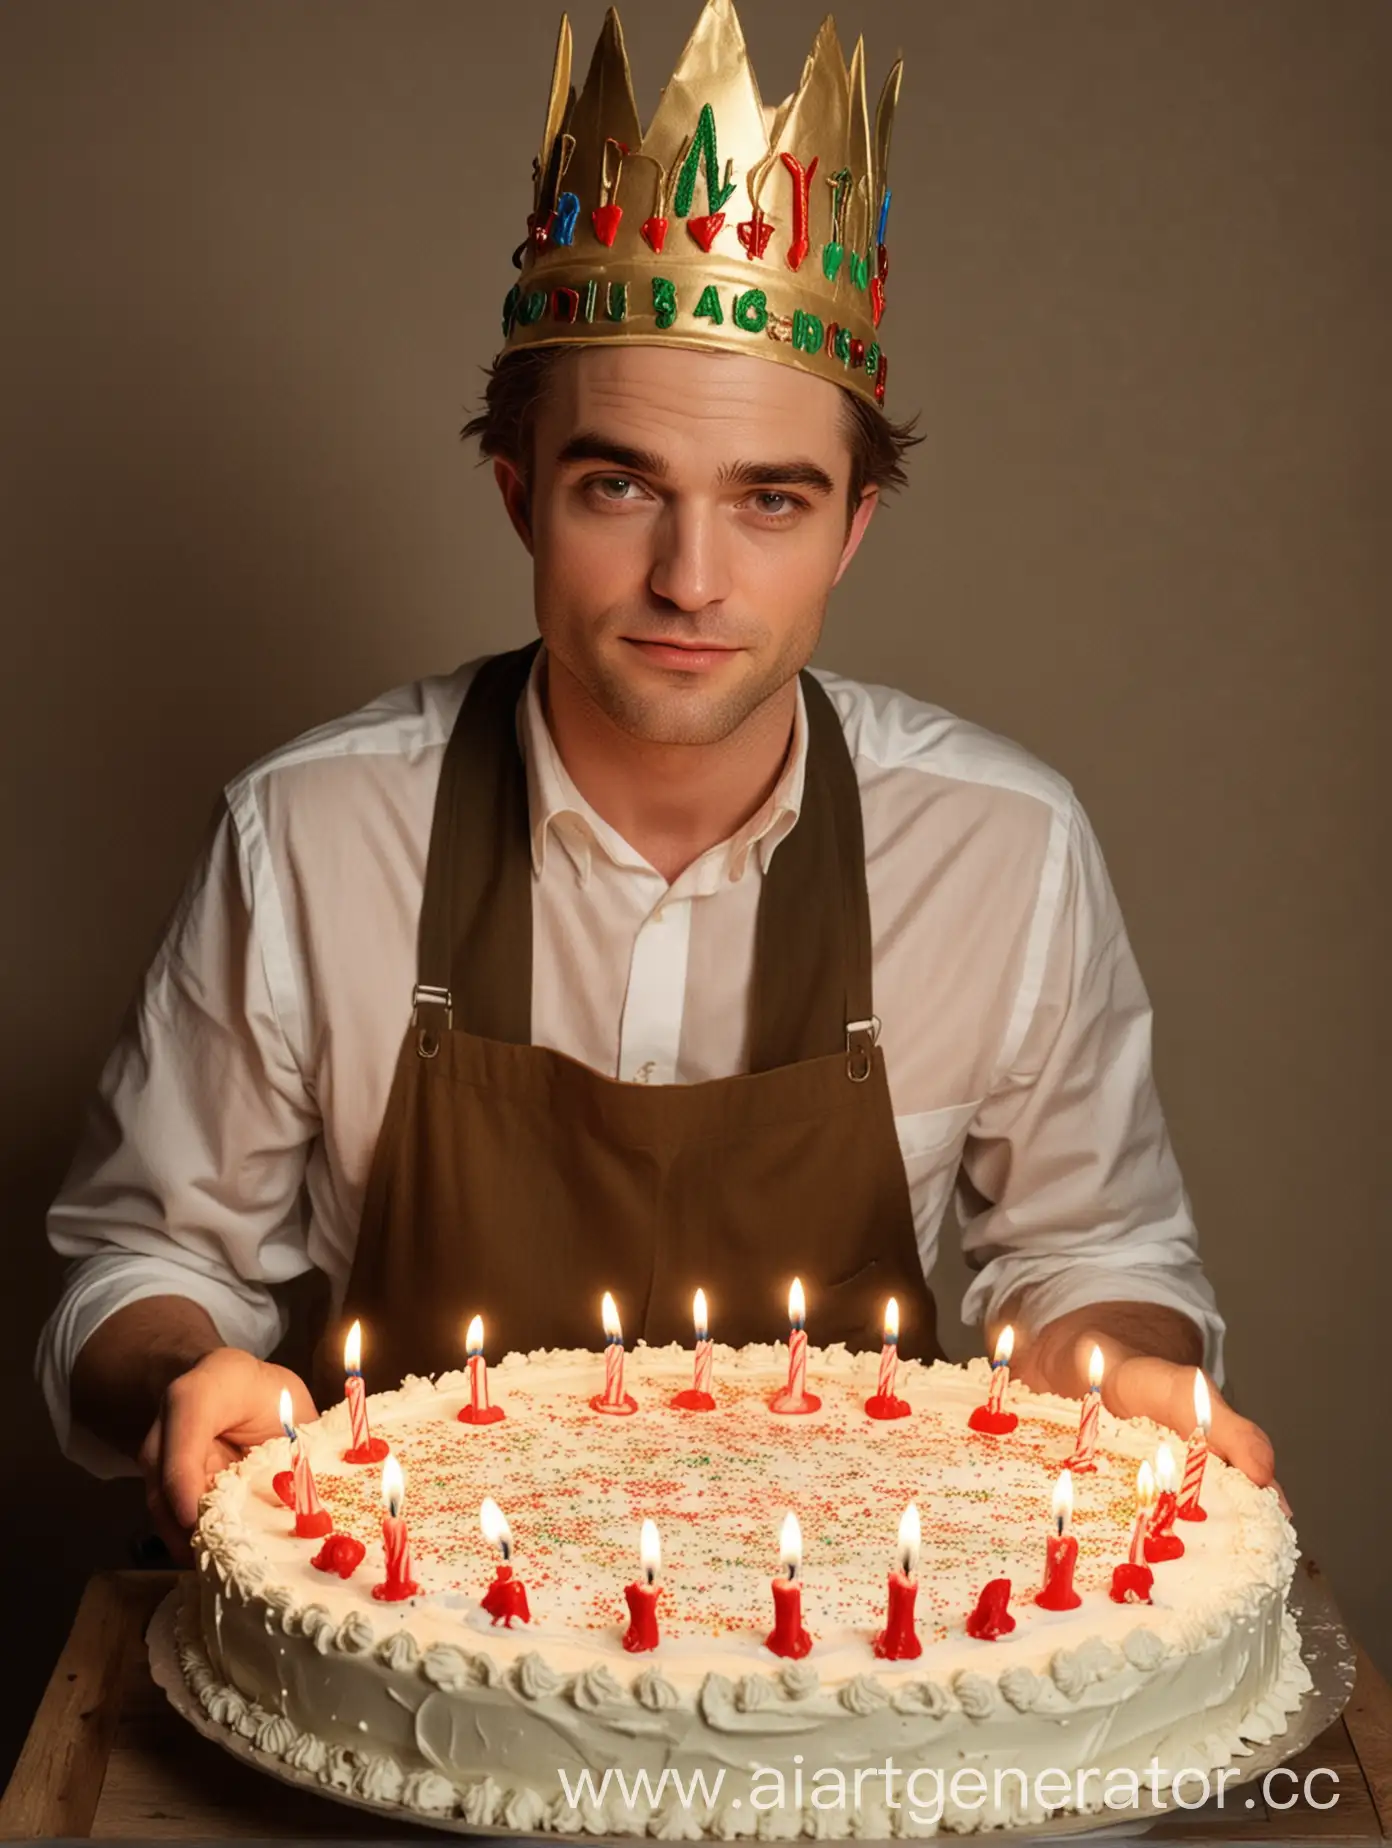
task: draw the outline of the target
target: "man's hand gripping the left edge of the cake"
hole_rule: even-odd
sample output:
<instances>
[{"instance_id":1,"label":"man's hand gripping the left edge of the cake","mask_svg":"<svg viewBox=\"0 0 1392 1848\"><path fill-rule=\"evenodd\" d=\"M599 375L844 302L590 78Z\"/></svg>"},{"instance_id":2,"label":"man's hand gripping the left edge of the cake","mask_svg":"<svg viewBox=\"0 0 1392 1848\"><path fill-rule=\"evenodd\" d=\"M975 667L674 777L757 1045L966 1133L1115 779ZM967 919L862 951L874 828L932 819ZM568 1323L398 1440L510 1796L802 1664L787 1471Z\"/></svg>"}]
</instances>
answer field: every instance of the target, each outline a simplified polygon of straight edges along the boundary
<instances>
[{"instance_id":1,"label":"man's hand gripping the left edge of the cake","mask_svg":"<svg viewBox=\"0 0 1392 1848\"><path fill-rule=\"evenodd\" d=\"M150 1519L179 1563L192 1558L189 1532L213 1477L253 1443L279 1434L283 1388L296 1423L318 1416L298 1373L240 1347L214 1347L166 1386L137 1460Z\"/></svg>"}]
</instances>

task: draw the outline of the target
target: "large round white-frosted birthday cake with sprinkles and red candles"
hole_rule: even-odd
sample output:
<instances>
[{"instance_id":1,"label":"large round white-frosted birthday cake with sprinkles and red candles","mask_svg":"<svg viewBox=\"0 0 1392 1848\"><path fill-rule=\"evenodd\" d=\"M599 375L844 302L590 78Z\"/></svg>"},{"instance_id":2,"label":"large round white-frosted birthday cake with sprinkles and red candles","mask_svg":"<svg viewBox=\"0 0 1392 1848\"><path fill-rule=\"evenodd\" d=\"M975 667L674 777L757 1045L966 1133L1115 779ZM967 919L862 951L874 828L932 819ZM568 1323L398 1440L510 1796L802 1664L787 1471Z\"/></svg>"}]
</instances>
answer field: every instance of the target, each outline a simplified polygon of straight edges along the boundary
<instances>
[{"instance_id":1,"label":"large round white-frosted birthday cake with sprinkles and red candles","mask_svg":"<svg viewBox=\"0 0 1392 1848\"><path fill-rule=\"evenodd\" d=\"M989 1373L900 1364L906 1416L873 1417L878 1356L812 1349L821 1404L780 1416L788 1349L715 1347L714 1408L690 1410L673 1399L691 1353L640 1343L636 1410L604 1416L604 1355L510 1355L492 1423L458 1417L468 1371L373 1393L370 1462L344 1460L360 1414L351 1430L335 1406L296 1434L298 1486L288 1438L211 1486L185 1680L211 1720L331 1791L518 1831L1105 1817L1137 1774L1163 1791L1276 1737L1309 1687L1276 1495L1209 1458L1207 1519L1172 1525L1181 1552L1148 1567L1148 1602L1118 1600L1137 1465L1166 1434L1102 1412L1068 1523L1078 1403L1011 1386L1017 1427L985 1434ZM296 1488L318 1517L287 1506ZM1035 1602L1046 1556L1072 1608Z\"/></svg>"}]
</instances>

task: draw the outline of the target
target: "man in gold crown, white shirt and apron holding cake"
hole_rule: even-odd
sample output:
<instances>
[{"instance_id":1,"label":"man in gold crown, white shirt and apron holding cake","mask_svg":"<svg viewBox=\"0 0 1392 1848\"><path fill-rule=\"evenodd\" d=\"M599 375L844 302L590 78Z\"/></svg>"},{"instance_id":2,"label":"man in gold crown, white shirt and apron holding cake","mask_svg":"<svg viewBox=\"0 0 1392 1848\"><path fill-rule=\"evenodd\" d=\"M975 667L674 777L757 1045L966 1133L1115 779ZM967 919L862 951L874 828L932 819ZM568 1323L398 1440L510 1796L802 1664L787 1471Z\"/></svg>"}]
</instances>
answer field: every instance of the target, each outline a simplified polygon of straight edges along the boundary
<instances>
[{"instance_id":1,"label":"man in gold crown, white shirt and apron holding cake","mask_svg":"<svg viewBox=\"0 0 1392 1848\"><path fill-rule=\"evenodd\" d=\"M959 1181L965 1314L1017 1325L1026 1380L1078 1393L1096 1343L1113 1410L1187 1432L1220 1369L1076 798L806 671L910 440L882 410L897 94L871 124L826 26L765 113L710 0L643 135L614 15L579 100L562 28L470 427L542 645L229 785L52 1210L55 1425L139 1460L176 1549L283 1384L312 1416L263 1358L311 1266L322 1360L359 1318L379 1384L458 1364L475 1308L495 1351L592 1343L604 1288L629 1338L686 1332L695 1284L717 1336L769 1338L795 1271L817 1340L878 1342L893 1294L934 1355ZM1213 1447L1270 1480L1222 1399Z\"/></svg>"}]
</instances>

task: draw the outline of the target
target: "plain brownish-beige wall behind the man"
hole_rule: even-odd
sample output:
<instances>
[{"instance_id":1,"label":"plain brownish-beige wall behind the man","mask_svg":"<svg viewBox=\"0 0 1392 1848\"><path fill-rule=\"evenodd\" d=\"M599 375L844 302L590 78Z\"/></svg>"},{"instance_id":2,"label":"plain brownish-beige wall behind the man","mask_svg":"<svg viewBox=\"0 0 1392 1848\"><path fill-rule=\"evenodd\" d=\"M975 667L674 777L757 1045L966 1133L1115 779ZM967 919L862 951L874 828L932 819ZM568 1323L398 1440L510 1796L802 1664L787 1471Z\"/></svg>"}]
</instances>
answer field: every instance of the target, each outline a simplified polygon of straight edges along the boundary
<instances>
[{"instance_id":1,"label":"plain brownish-beige wall behind the man","mask_svg":"<svg viewBox=\"0 0 1392 1848\"><path fill-rule=\"evenodd\" d=\"M643 113L688 11L630 9ZM819 13L747 0L771 94ZM577 15L588 59L601 7ZM1392 9L861 0L843 26L876 83L908 57L885 334L928 442L821 658L1081 793L1237 1393L1392 1667ZM41 1429L41 1209L214 793L529 628L457 429L553 35L555 0L0 9L0 1336L7 1475L48 1536L22 1700L57 1602L139 1526Z\"/></svg>"}]
</instances>

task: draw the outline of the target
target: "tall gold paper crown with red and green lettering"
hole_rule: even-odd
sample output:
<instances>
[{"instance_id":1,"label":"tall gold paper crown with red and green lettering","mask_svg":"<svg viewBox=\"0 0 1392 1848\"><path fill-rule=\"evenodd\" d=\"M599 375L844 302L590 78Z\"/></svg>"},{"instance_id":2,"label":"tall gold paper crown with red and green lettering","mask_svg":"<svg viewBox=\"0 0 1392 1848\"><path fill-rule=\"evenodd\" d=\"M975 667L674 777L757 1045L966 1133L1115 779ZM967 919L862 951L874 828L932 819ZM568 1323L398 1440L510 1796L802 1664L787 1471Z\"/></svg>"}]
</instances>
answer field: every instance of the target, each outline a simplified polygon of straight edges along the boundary
<instances>
[{"instance_id":1,"label":"tall gold paper crown with red and green lettering","mask_svg":"<svg viewBox=\"0 0 1392 1848\"><path fill-rule=\"evenodd\" d=\"M610 340L756 353L884 403L889 131L902 61L865 107L828 17L776 109L730 0L706 0L656 115L638 124L614 7L571 87L560 20L507 349Z\"/></svg>"}]
</instances>

